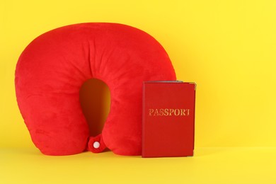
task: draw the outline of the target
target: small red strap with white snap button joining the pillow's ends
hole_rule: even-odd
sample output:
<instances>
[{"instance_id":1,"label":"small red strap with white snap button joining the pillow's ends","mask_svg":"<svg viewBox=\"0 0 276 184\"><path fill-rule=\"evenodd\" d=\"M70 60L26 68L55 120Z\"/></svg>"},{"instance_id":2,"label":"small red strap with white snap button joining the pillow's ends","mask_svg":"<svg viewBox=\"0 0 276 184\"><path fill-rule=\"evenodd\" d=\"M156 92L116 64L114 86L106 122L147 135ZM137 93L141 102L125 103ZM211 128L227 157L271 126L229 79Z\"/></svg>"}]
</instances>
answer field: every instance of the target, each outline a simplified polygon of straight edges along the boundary
<instances>
[{"instance_id":1,"label":"small red strap with white snap button joining the pillow's ends","mask_svg":"<svg viewBox=\"0 0 276 184\"><path fill-rule=\"evenodd\" d=\"M105 150L106 146L103 142L102 134L98 134L96 137L89 137L87 150L93 153L100 153Z\"/></svg>"}]
</instances>

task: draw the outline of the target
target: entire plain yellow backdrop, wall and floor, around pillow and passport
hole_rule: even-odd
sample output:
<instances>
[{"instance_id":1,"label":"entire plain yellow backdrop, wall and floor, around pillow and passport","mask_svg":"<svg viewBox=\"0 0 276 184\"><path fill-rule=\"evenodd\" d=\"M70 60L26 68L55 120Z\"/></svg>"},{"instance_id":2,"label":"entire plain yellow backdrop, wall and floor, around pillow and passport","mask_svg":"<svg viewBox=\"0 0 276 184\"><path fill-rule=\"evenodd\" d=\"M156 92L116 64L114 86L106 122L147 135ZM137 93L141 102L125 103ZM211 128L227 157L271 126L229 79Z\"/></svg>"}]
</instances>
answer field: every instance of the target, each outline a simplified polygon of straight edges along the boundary
<instances>
[{"instance_id":1,"label":"entire plain yellow backdrop, wall and floor, around pillow and passport","mask_svg":"<svg viewBox=\"0 0 276 184\"><path fill-rule=\"evenodd\" d=\"M275 10L274 0L0 0L0 181L276 183ZM197 83L194 157L51 157L34 148L16 103L17 59L38 35L83 22L146 31L178 79Z\"/></svg>"}]
</instances>

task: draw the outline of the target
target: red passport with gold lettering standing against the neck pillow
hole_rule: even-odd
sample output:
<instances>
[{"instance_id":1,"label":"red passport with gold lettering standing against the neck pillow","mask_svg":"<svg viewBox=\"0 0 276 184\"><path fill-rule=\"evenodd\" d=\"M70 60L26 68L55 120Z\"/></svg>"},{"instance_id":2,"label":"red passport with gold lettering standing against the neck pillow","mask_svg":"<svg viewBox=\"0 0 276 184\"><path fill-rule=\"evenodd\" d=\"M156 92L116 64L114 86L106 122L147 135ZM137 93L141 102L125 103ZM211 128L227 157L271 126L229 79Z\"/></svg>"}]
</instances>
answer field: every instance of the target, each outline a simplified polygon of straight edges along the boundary
<instances>
[{"instance_id":1,"label":"red passport with gold lettering standing against the neck pillow","mask_svg":"<svg viewBox=\"0 0 276 184\"><path fill-rule=\"evenodd\" d=\"M192 156L195 83L143 84L142 157Z\"/></svg>"}]
</instances>

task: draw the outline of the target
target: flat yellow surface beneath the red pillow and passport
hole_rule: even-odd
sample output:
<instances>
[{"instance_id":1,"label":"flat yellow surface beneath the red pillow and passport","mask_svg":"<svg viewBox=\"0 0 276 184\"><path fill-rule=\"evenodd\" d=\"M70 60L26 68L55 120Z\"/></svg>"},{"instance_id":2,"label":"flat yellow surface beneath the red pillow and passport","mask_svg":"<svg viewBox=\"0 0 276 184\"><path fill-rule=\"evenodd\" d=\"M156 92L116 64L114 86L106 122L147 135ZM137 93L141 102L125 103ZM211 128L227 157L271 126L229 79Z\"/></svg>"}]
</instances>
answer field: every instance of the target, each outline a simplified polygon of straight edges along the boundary
<instances>
[{"instance_id":1,"label":"flat yellow surface beneath the red pillow and passport","mask_svg":"<svg viewBox=\"0 0 276 184\"><path fill-rule=\"evenodd\" d=\"M141 159L112 152L44 156L1 149L1 183L276 183L275 148L198 148L194 157Z\"/></svg>"}]
</instances>

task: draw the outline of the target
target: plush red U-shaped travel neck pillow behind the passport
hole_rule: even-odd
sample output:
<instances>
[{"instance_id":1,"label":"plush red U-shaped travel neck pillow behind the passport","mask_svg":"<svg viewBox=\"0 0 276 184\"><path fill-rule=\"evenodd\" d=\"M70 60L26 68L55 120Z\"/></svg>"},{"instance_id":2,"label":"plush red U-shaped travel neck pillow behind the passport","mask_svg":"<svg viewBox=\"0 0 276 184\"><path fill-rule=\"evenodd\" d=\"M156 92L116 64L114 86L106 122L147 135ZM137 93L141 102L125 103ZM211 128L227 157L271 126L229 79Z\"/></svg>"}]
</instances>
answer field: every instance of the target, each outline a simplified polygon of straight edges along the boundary
<instances>
[{"instance_id":1,"label":"plush red U-shaped travel neck pillow behind the passport","mask_svg":"<svg viewBox=\"0 0 276 184\"><path fill-rule=\"evenodd\" d=\"M79 91L88 79L110 89L102 134L89 136ZM43 154L141 155L142 81L175 80L163 47L147 33L117 23L81 23L51 30L25 48L16 66L16 96ZM97 90L97 89L95 89Z\"/></svg>"}]
</instances>

